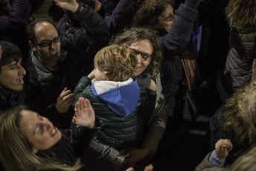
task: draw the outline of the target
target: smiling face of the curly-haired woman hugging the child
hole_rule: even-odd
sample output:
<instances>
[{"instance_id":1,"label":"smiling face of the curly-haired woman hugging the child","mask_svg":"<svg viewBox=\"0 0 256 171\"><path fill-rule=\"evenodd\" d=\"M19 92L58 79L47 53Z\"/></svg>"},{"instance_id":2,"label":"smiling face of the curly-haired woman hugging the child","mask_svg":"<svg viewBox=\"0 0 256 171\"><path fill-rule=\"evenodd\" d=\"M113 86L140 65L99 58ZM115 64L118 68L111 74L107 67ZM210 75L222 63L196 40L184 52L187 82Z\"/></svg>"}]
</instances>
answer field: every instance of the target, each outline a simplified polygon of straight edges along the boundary
<instances>
[{"instance_id":1,"label":"smiling face of the curly-haired woman hugging the child","mask_svg":"<svg viewBox=\"0 0 256 171\"><path fill-rule=\"evenodd\" d=\"M138 42L132 43L132 45L129 46L131 49L135 49L137 51L140 51L142 53L146 54L153 54L153 45L148 39L139 40ZM150 59L147 60L141 60L141 54L137 55L138 62L134 68L133 71L133 77L137 77L139 74L141 74L145 69L147 68L147 65L150 65Z\"/></svg>"}]
</instances>

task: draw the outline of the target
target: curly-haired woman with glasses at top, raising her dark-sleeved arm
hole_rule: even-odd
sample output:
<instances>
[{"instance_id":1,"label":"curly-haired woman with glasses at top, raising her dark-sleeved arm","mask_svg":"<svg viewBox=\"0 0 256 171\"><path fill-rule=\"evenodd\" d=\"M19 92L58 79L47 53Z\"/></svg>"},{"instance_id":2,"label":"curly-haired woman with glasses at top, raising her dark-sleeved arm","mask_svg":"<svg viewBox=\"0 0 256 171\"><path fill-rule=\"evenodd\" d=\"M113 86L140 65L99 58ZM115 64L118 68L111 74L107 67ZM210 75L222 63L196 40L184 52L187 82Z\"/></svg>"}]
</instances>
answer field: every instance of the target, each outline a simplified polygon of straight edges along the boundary
<instances>
[{"instance_id":1,"label":"curly-haired woman with glasses at top, raising her dark-sleeved arm","mask_svg":"<svg viewBox=\"0 0 256 171\"><path fill-rule=\"evenodd\" d=\"M173 0L142 1L132 22L135 26L147 26L156 30L164 49L164 59L160 68L161 86L169 117L173 117L175 95L185 78L179 54L185 49L191 37L199 0L186 0L176 13L173 5Z\"/></svg>"}]
</instances>

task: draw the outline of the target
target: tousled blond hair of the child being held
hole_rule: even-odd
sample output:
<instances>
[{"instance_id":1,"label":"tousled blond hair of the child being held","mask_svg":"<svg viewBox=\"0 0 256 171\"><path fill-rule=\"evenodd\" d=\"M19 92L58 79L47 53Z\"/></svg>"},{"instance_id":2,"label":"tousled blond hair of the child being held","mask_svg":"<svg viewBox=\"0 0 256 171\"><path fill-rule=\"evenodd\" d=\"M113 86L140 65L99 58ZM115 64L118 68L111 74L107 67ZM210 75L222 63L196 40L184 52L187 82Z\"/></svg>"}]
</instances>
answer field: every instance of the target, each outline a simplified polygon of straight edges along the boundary
<instances>
[{"instance_id":1,"label":"tousled blond hair of the child being held","mask_svg":"<svg viewBox=\"0 0 256 171\"><path fill-rule=\"evenodd\" d=\"M95 56L95 67L107 71L106 77L111 81L125 81L132 77L137 62L137 56L124 44L109 45Z\"/></svg>"}]
</instances>

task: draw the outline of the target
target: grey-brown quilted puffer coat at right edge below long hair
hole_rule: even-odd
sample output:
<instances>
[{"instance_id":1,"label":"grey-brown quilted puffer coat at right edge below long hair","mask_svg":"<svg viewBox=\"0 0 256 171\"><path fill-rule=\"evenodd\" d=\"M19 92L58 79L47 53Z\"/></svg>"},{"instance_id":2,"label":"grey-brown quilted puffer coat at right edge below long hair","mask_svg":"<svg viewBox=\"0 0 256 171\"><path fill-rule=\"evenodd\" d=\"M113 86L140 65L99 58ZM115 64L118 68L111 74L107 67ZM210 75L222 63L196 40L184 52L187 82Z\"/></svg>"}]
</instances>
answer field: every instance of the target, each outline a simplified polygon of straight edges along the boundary
<instances>
[{"instance_id":1,"label":"grey-brown quilted puffer coat at right edge below long hair","mask_svg":"<svg viewBox=\"0 0 256 171\"><path fill-rule=\"evenodd\" d=\"M225 75L231 91L237 91L252 79L252 62L256 57L256 28L236 28L231 25Z\"/></svg>"}]
</instances>

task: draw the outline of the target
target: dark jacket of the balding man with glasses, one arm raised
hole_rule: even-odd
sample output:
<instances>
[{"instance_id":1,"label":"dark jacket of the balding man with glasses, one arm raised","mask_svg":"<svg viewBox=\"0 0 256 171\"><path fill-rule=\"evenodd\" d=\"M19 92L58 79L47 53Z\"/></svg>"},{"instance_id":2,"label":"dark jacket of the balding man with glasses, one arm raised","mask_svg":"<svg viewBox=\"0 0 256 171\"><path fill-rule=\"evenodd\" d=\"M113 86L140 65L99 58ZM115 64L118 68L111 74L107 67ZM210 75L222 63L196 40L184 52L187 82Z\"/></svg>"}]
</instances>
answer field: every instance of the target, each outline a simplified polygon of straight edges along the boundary
<instances>
[{"instance_id":1,"label":"dark jacket of the balding man with glasses, one arm raised","mask_svg":"<svg viewBox=\"0 0 256 171\"><path fill-rule=\"evenodd\" d=\"M67 114L58 114L55 108L57 97L60 96L65 87L74 91L80 77L84 75L83 62L81 61L87 57L88 49L97 41L106 41L109 33L103 19L88 6L84 7L83 12L75 15L83 28L62 39L57 70L42 65L36 57L33 57L35 56L33 51L30 51L27 63L31 81L25 103L32 105L34 111L48 117L54 125L60 128L70 128L74 109L71 107ZM36 71L34 65L36 62L39 62L38 64L42 68L41 75ZM51 74L51 77L47 79L39 77L44 77L44 74Z\"/></svg>"}]
</instances>

